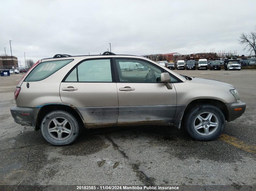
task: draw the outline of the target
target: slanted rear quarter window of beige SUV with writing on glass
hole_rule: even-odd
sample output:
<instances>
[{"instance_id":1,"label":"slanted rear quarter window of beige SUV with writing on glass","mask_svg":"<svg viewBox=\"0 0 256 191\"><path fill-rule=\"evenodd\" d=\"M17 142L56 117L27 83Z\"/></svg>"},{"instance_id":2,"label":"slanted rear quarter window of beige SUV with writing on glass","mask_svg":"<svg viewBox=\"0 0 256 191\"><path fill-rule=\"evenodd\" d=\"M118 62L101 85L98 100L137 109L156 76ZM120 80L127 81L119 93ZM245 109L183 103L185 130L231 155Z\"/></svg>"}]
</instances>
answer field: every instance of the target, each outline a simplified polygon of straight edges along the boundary
<instances>
[{"instance_id":1,"label":"slanted rear quarter window of beige SUV with writing on glass","mask_svg":"<svg viewBox=\"0 0 256 191\"><path fill-rule=\"evenodd\" d=\"M72 61L73 59L41 62L28 74L25 81L43 80Z\"/></svg>"}]
</instances>

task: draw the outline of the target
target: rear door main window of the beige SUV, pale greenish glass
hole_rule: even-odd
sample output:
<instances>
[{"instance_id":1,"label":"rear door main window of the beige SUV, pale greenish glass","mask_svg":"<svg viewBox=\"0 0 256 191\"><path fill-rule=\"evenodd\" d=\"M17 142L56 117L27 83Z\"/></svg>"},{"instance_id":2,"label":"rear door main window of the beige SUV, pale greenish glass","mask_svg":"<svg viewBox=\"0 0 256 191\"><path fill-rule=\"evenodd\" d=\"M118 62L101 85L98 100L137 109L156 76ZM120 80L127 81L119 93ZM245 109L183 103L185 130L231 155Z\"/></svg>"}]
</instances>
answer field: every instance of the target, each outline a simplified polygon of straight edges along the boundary
<instances>
[{"instance_id":1,"label":"rear door main window of the beige SUV, pale greenish glass","mask_svg":"<svg viewBox=\"0 0 256 191\"><path fill-rule=\"evenodd\" d=\"M77 67L78 81L112 82L109 59L87 60Z\"/></svg>"}]
</instances>

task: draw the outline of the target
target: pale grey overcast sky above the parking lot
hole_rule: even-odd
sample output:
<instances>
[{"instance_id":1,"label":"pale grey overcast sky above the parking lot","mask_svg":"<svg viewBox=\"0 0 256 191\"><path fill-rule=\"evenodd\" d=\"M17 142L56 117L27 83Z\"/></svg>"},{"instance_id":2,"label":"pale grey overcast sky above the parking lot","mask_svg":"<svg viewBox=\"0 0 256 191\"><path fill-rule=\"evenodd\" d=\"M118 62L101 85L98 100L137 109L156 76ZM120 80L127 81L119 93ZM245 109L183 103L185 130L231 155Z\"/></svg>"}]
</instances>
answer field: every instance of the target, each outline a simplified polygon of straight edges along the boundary
<instances>
[{"instance_id":1,"label":"pale grey overcast sky above the parking lot","mask_svg":"<svg viewBox=\"0 0 256 191\"><path fill-rule=\"evenodd\" d=\"M0 54L24 63L55 54L181 54L237 50L256 26L256 1L2 1Z\"/></svg>"}]
</instances>

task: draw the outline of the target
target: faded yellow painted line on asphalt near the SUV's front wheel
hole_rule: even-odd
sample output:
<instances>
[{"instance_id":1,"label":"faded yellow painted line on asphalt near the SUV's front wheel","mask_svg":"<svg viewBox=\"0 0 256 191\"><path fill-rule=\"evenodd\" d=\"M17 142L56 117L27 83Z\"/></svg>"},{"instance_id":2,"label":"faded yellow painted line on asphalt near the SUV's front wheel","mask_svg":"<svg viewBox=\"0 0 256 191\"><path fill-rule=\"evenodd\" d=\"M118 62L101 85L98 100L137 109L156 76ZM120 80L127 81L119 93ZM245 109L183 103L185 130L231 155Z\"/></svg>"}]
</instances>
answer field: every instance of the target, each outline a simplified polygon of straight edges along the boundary
<instances>
[{"instance_id":1,"label":"faded yellow painted line on asphalt near the SUV's front wheel","mask_svg":"<svg viewBox=\"0 0 256 191\"><path fill-rule=\"evenodd\" d=\"M255 153L256 152L256 146L254 145L249 145L243 141L238 140L235 137L226 135L226 134L221 134L221 136L219 137L220 140L229 143L230 145L233 145L237 148L240 148L244 151L250 152L250 153Z\"/></svg>"}]
</instances>

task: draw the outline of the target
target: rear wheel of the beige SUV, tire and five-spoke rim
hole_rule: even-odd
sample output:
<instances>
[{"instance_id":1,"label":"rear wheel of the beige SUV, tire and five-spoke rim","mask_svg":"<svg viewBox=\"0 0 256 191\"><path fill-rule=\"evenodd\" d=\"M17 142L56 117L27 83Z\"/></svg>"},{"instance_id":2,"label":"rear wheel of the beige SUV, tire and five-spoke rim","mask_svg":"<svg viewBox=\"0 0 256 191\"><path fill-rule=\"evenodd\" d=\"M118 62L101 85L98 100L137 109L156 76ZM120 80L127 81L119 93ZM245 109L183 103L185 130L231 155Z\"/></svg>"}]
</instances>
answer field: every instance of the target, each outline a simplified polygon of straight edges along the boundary
<instances>
[{"instance_id":1,"label":"rear wheel of the beige SUV, tire and five-spoke rim","mask_svg":"<svg viewBox=\"0 0 256 191\"><path fill-rule=\"evenodd\" d=\"M41 133L52 145L68 145L78 136L78 124L78 120L71 113L56 110L46 114L43 118Z\"/></svg>"}]
</instances>

